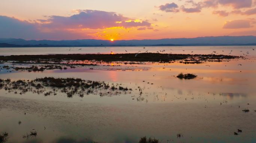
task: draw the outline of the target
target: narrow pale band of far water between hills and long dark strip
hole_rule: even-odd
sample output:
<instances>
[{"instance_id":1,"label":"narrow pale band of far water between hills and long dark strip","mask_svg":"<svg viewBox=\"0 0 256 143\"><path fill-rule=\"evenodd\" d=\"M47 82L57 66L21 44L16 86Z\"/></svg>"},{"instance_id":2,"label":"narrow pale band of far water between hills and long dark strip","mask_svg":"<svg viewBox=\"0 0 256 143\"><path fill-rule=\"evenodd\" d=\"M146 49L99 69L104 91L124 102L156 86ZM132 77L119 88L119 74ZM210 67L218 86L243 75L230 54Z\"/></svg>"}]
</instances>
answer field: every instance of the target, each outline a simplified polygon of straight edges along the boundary
<instances>
[{"instance_id":1,"label":"narrow pale band of far water between hills and long dark strip","mask_svg":"<svg viewBox=\"0 0 256 143\"><path fill-rule=\"evenodd\" d=\"M225 54L255 56L256 46L186 46L186 47L46 47L46 48L0 48L0 55L42 54L115 54L120 53L172 53L172 54ZM79 50L81 49L81 50ZM125 51L127 50L127 52ZM163 51L164 50L164 51ZM232 50L232 52L231 52ZM140 51L140 52L139 52ZM161 52L163 51L163 52ZM192 53L193 51L193 53ZM247 54L249 52L249 54Z\"/></svg>"}]
</instances>

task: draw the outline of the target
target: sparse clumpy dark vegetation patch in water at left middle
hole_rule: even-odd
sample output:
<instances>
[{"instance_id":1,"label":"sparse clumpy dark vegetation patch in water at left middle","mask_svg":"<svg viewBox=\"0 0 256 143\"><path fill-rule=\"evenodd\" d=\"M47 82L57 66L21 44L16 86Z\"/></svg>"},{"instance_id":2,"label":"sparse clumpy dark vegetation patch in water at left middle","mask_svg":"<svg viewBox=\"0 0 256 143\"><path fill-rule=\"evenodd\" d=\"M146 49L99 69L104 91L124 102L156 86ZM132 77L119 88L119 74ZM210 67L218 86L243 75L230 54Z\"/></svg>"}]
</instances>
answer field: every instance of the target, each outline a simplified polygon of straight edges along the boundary
<instances>
[{"instance_id":1,"label":"sparse clumpy dark vegetation patch in water at left middle","mask_svg":"<svg viewBox=\"0 0 256 143\"><path fill-rule=\"evenodd\" d=\"M57 93L65 93L67 97L71 98L74 95L83 97L83 95L95 94L100 96L111 96L120 95L121 93L126 94L127 87L122 87L118 84L112 85L110 88L109 83L97 82L91 80L82 80L78 78L54 78L44 77L37 78L35 80L16 80L11 81L10 79L0 79L0 89L4 88L8 92L14 92L15 94L25 94L27 92L32 93L43 93L45 96L57 95ZM130 93L130 92L128 92Z\"/></svg>"}]
</instances>

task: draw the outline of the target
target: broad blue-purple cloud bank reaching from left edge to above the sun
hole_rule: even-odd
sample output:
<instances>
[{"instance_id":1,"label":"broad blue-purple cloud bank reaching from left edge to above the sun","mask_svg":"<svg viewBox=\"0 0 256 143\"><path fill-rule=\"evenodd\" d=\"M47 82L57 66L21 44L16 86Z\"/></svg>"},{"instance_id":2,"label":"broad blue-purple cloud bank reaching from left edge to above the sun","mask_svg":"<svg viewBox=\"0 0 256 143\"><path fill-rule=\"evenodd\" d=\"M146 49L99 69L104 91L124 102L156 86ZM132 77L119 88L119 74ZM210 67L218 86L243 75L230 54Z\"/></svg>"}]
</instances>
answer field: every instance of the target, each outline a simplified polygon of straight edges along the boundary
<instances>
[{"instance_id":1,"label":"broad blue-purple cloud bank reaching from left edge to above the sun","mask_svg":"<svg viewBox=\"0 0 256 143\"><path fill-rule=\"evenodd\" d=\"M87 31L120 28L150 28L151 23L99 10L76 10L71 16L48 16L33 21L0 16L0 38L80 39L92 38Z\"/></svg>"}]
</instances>

